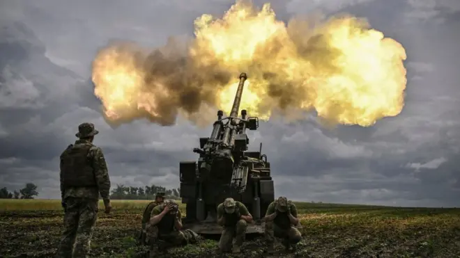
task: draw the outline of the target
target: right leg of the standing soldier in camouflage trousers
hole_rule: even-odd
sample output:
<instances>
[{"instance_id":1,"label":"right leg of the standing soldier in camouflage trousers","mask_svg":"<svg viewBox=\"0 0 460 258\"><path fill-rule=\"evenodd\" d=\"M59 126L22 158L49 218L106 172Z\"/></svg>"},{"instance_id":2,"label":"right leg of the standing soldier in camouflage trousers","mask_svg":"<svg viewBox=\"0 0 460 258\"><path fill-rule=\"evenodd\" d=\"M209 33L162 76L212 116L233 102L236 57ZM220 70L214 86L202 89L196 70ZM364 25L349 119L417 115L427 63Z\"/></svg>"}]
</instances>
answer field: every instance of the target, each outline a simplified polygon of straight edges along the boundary
<instances>
[{"instance_id":1,"label":"right leg of the standing soldier in camouflage trousers","mask_svg":"<svg viewBox=\"0 0 460 258\"><path fill-rule=\"evenodd\" d=\"M73 257L88 257L94 226L98 219L98 201L84 200L79 209L77 238Z\"/></svg>"}]
</instances>

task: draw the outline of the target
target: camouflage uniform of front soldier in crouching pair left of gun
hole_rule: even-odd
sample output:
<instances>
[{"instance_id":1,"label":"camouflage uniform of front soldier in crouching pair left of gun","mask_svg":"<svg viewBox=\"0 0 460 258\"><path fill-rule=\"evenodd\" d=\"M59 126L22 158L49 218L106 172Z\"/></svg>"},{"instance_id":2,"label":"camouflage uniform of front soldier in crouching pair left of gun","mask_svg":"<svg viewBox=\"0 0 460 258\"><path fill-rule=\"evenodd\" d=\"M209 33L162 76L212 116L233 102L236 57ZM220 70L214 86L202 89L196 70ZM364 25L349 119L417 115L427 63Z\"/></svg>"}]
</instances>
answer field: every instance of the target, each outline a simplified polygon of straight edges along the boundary
<instances>
[{"instance_id":1,"label":"camouflage uniform of front soldier in crouching pair left of gun","mask_svg":"<svg viewBox=\"0 0 460 258\"><path fill-rule=\"evenodd\" d=\"M160 215L168 204L175 204L175 202L171 200L167 200L160 205L155 206L152 209L151 219L155 216ZM150 256L155 257L157 255L158 249L166 248L166 245L159 246L159 242L162 241L163 243L167 243L169 246L180 246L180 245L187 245L190 242L190 232L181 231L181 229L177 229L175 227L175 220L178 219L182 221L181 211L177 209L177 213L167 213L164 217L160 220L157 225L151 225L151 223L147 223L146 225L146 234L147 239L150 243Z\"/></svg>"}]
</instances>

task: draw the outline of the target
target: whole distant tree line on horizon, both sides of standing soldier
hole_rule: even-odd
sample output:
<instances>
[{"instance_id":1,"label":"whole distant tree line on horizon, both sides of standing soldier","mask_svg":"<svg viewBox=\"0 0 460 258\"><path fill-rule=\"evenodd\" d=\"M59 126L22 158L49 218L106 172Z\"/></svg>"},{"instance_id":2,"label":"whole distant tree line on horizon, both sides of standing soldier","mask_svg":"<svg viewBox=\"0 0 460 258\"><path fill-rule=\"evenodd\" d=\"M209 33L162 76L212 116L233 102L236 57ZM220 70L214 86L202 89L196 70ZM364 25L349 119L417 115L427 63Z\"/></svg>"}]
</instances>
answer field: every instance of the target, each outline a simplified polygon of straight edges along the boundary
<instances>
[{"instance_id":1,"label":"whole distant tree line on horizon, both sides of standing soldier","mask_svg":"<svg viewBox=\"0 0 460 258\"><path fill-rule=\"evenodd\" d=\"M0 199L33 199L38 195L37 186L33 183L27 183L20 191L8 191L8 188L0 188ZM167 189L163 186L133 187L117 184L112 190L110 198L113 200L153 200L155 193L164 192L168 199L180 199L179 193L181 188Z\"/></svg>"}]
</instances>

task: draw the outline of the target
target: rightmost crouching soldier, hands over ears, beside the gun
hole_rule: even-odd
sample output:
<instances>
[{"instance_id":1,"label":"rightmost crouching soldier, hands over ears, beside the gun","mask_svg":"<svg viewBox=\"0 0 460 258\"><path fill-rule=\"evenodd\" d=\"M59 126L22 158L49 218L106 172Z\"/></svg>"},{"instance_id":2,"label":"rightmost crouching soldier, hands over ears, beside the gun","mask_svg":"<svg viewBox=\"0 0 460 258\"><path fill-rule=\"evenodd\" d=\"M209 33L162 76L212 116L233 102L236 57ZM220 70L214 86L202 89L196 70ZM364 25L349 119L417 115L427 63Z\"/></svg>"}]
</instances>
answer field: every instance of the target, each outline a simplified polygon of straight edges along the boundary
<instances>
[{"instance_id":1,"label":"rightmost crouching soldier, hands over ears, beside the gun","mask_svg":"<svg viewBox=\"0 0 460 258\"><path fill-rule=\"evenodd\" d=\"M282 245L286 250L296 250L296 244L302 240L302 234L296 229L299 223L297 218L297 207L286 197L279 197L268 205L263 218L265 221L265 236L268 242L268 252L273 252L275 237L282 239Z\"/></svg>"}]
</instances>

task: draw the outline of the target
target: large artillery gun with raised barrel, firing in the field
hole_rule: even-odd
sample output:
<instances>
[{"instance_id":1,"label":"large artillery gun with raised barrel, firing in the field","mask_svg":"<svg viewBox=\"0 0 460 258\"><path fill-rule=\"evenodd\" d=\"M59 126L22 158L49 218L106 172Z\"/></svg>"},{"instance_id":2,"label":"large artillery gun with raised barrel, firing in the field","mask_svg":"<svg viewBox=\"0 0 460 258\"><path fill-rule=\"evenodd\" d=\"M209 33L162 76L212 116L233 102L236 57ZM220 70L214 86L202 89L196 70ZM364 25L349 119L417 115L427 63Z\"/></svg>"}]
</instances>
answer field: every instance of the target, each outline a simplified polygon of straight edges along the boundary
<instances>
[{"instance_id":1,"label":"large artillery gun with raised barrel, firing in the field","mask_svg":"<svg viewBox=\"0 0 460 258\"><path fill-rule=\"evenodd\" d=\"M256 130L259 118L247 118L247 111L238 110L247 76L240 74L233 107L228 118L217 111L210 137L199 138L198 161L180 163L181 198L185 203L184 227L199 234L220 234L217 206L227 197L243 202L254 218L247 233L262 233L262 218L275 199L273 179L267 156L247 152L249 138L246 129Z\"/></svg>"}]
</instances>

